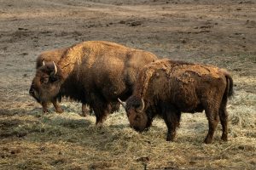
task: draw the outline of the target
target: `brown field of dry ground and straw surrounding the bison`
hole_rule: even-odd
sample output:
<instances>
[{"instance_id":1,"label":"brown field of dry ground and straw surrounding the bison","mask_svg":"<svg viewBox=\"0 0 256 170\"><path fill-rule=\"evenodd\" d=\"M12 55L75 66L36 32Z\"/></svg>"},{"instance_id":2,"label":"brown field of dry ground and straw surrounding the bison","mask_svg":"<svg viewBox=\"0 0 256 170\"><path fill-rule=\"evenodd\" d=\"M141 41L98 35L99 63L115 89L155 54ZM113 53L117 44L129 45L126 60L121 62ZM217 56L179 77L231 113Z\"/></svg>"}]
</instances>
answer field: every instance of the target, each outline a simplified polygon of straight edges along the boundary
<instances>
[{"instance_id":1,"label":"brown field of dry ground and straw surrounding the bison","mask_svg":"<svg viewBox=\"0 0 256 170\"><path fill-rule=\"evenodd\" d=\"M125 111L79 116L81 104L42 114L28 95L44 50L106 40L160 57L218 65L233 76L228 142L212 144L204 113L183 114L174 142L155 119L148 132ZM0 169L255 169L256 3L253 0L0 0Z\"/></svg>"}]
</instances>

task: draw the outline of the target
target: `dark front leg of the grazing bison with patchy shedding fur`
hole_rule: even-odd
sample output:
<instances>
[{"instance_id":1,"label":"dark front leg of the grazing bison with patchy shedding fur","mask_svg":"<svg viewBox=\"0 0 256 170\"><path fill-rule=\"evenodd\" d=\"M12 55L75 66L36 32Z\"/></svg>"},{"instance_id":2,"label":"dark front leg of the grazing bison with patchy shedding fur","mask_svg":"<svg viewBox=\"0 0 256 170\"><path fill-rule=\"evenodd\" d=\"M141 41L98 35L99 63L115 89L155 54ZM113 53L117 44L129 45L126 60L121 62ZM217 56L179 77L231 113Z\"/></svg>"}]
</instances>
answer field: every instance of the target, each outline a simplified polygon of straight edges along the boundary
<instances>
[{"instance_id":1,"label":"dark front leg of the grazing bison with patchy shedding fur","mask_svg":"<svg viewBox=\"0 0 256 170\"><path fill-rule=\"evenodd\" d=\"M163 118L168 128L167 141L173 141L176 136L176 128L179 127L181 112L169 105L162 106Z\"/></svg>"}]
</instances>

